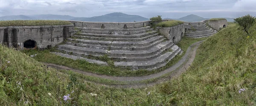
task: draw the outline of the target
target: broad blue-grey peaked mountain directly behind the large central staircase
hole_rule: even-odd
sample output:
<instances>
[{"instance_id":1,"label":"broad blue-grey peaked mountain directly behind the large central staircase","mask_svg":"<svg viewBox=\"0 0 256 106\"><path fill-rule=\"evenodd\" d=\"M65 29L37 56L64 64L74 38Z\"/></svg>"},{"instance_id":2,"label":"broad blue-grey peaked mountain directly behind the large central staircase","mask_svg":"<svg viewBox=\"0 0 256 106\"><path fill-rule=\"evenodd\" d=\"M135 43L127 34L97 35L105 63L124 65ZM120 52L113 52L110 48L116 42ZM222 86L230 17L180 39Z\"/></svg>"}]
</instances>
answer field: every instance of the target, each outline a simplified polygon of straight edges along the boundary
<instances>
[{"instance_id":1,"label":"broad blue-grey peaked mountain directly behind the large central staircase","mask_svg":"<svg viewBox=\"0 0 256 106\"><path fill-rule=\"evenodd\" d=\"M128 15L119 12L105 14L102 16L97 17L81 17L81 18L74 18L71 19L73 21L87 21L87 22L139 22L139 21L147 21L148 18L141 17L138 15Z\"/></svg>"}]
</instances>

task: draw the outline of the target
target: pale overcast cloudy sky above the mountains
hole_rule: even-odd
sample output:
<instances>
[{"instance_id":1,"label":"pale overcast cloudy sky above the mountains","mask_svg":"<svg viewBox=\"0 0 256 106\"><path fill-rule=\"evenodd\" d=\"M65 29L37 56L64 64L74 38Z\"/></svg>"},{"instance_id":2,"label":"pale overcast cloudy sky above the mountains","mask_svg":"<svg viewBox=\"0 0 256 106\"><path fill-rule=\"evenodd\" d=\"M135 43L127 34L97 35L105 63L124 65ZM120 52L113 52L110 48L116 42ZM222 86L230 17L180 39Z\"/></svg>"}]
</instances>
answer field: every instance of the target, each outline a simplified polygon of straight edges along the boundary
<instances>
[{"instance_id":1,"label":"pale overcast cloudy sky above the mountains","mask_svg":"<svg viewBox=\"0 0 256 106\"><path fill-rule=\"evenodd\" d=\"M112 12L163 18L256 16L256 0L0 0L0 16L60 14L93 17Z\"/></svg>"}]
</instances>

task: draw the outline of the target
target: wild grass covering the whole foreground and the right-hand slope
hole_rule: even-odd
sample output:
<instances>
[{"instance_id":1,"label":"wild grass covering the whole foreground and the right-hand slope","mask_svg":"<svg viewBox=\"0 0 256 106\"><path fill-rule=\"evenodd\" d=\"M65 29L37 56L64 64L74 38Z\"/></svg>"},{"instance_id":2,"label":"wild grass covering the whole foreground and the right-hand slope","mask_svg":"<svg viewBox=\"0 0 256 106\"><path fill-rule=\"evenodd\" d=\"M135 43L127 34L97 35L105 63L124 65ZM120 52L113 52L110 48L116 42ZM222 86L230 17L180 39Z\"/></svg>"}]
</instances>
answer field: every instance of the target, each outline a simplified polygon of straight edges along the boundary
<instances>
[{"instance_id":1,"label":"wild grass covering the whole foreground and the right-hand slope","mask_svg":"<svg viewBox=\"0 0 256 106\"><path fill-rule=\"evenodd\" d=\"M0 105L255 106L256 25L250 34L239 28L229 25L203 42L186 73L140 89L91 84L0 46Z\"/></svg>"}]
</instances>

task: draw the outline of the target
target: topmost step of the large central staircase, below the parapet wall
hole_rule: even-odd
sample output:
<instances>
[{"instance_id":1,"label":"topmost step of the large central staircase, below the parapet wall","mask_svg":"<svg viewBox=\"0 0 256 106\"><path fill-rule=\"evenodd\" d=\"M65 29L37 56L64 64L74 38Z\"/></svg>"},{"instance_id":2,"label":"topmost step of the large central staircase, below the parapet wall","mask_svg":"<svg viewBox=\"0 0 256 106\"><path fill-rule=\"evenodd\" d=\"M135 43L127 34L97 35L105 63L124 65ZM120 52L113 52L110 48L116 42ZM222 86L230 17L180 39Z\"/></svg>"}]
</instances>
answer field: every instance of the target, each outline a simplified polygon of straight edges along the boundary
<instances>
[{"instance_id":1,"label":"topmost step of the large central staircase, below the parapet wall","mask_svg":"<svg viewBox=\"0 0 256 106\"><path fill-rule=\"evenodd\" d=\"M111 31L111 32L138 32L150 29L150 26L141 27L141 28L131 28L131 29L123 29L123 28L81 28L81 27L75 27L76 30L81 31Z\"/></svg>"}]
</instances>

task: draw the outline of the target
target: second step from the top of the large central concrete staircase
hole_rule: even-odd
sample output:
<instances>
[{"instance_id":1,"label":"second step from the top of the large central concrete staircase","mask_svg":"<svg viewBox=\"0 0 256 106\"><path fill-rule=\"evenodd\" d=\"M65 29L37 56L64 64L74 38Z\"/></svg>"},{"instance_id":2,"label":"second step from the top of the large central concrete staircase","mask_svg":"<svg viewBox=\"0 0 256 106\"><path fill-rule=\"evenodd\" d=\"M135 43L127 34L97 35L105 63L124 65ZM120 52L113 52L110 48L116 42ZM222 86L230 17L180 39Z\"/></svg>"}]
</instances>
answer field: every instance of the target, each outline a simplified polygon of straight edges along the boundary
<instances>
[{"instance_id":1,"label":"second step from the top of the large central concrete staircase","mask_svg":"<svg viewBox=\"0 0 256 106\"><path fill-rule=\"evenodd\" d=\"M157 33L157 31L148 31L140 34L123 35L123 34L97 34L97 33L81 33L76 36L90 36L90 37L102 37L102 38L142 38Z\"/></svg>"}]
</instances>

